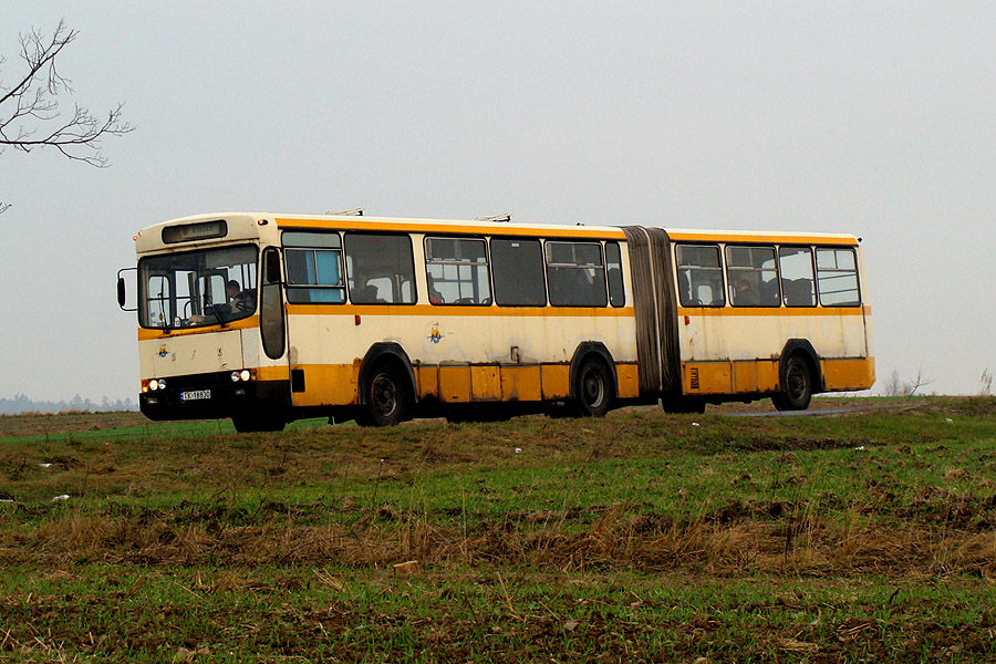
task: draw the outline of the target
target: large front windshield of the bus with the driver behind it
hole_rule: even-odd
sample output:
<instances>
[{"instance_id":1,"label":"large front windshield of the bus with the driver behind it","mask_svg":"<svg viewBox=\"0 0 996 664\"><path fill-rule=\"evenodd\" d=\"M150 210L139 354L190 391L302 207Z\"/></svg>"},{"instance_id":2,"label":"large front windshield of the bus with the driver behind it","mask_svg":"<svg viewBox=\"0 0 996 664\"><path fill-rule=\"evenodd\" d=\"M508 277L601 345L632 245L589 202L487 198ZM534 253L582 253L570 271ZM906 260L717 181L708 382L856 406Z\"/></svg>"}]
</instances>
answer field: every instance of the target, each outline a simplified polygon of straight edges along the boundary
<instances>
[{"instance_id":1,"label":"large front windshield of the bus with the driver behind it","mask_svg":"<svg viewBox=\"0 0 996 664\"><path fill-rule=\"evenodd\" d=\"M255 246L143 258L138 321L143 328L217 325L256 312Z\"/></svg>"}]
</instances>

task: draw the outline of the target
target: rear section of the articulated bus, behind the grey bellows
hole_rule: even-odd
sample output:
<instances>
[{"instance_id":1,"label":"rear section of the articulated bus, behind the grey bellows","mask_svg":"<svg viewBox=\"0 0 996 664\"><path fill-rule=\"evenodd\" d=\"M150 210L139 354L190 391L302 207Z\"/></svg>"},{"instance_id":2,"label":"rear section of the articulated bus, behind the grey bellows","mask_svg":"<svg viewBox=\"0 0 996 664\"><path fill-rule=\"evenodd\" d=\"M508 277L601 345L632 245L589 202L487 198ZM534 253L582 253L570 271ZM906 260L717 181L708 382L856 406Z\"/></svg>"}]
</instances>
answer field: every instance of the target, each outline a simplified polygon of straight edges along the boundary
<instances>
[{"instance_id":1,"label":"rear section of the articulated bus, behind the grey bellows","mask_svg":"<svg viewBox=\"0 0 996 664\"><path fill-rule=\"evenodd\" d=\"M874 383L857 238L672 237L683 395L800 409L813 394Z\"/></svg>"}]
</instances>

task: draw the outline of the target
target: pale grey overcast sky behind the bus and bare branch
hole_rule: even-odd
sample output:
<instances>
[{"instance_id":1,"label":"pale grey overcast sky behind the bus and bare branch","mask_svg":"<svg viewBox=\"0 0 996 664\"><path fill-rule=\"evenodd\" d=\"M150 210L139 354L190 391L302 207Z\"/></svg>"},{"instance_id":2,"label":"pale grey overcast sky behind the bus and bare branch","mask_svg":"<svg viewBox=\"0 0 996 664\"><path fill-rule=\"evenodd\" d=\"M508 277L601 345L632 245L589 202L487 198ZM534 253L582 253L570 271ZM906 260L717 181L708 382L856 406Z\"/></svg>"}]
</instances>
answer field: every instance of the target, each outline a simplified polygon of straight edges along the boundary
<instances>
[{"instance_id":1,"label":"pale grey overcast sky behind the bus and bare branch","mask_svg":"<svg viewBox=\"0 0 996 664\"><path fill-rule=\"evenodd\" d=\"M852 232L876 390L996 371L992 2L3 4L137 129L0 155L0 396L134 400L132 236L236 209Z\"/></svg>"}]
</instances>

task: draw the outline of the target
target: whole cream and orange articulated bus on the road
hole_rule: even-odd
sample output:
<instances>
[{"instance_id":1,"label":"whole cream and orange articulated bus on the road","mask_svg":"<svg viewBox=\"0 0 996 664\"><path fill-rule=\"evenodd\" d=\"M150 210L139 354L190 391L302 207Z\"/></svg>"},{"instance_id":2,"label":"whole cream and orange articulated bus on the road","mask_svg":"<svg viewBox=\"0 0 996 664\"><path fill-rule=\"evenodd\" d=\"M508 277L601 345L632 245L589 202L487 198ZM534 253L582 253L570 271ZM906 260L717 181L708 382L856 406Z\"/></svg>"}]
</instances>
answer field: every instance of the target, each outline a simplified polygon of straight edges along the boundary
<instances>
[{"instance_id":1,"label":"whole cream and orange articulated bus on the road","mask_svg":"<svg viewBox=\"0 0 996 664\"><path fill-rule=\"evenodd\" d=\"M850 235L236 212L135 241L154 421L802 409L874 382Z\"/></svg>"}]
</instances>

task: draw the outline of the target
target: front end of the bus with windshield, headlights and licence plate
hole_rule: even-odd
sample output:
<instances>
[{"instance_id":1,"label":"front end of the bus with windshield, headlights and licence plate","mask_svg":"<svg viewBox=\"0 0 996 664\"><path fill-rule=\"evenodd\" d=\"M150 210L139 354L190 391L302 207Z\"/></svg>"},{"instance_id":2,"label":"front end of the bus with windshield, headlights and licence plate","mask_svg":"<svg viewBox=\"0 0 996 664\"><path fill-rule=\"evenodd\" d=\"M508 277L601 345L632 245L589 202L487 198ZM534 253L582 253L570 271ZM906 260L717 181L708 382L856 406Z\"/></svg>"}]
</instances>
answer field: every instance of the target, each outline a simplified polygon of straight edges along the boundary
<instances>
[{"instance_id":1,"label":"front end of the bus with windshield, headlights and licence plate","mask_svg":"<svg viewBox=\"0 0 996 664\"><path fill-rule=\"evenodd\" d=\"M290 380L279 252L260 252L263 221L190 218L136 237L139 407L149 419L283 428Z\"/></svg>"}]
</instances>

